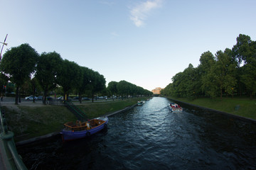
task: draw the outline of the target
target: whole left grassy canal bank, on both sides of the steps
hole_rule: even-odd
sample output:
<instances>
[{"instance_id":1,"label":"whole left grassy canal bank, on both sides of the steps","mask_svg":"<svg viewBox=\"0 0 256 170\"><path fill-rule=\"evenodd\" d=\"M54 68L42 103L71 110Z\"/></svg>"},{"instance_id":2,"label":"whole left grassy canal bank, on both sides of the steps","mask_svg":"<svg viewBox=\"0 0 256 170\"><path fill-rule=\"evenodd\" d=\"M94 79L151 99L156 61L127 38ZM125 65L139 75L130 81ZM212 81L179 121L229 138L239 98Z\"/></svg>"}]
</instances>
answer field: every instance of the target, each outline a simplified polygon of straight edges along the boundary
<instances>
[{"instance_id":1,"label":"whole left grassy canal bank, on both sides of the steps","mask_svg":"<svg viewBox=\"0 0 256 170\"><path fill-rule=\"evenodd\" d=\"M145 98L82 104L77 102L75 105L87 113L88 118L96 118L132 106L141 99ZM33 106L32 103L31 106L3 106L3 108L6 111L8 128L14 132L16 142L60 131L63 123L77 120L63 106L44 106L43 104Z\"/></svg>"}]
</instances>

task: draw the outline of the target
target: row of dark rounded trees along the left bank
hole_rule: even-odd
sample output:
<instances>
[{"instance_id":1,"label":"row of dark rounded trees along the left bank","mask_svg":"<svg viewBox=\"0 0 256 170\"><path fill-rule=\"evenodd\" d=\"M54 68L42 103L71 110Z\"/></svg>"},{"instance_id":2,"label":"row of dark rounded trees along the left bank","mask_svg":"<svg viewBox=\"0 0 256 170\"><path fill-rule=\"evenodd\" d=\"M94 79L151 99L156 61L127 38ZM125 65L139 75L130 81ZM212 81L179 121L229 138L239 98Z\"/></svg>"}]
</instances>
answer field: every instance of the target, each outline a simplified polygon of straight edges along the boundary
<instances>
[{"instance_id":1,"label":"row of dark rounded trees along the left bank","mask_svg":"<svg viewBox=\"0 0 256 170\"><path fill-rule=\"evenodd\" d=\"M43 96L48 96L48 92L55 90L56 87L61 87L61 96L68 96L70 92L75 91L75 94L79 94L79 98L83 95L95 96L97 93L107 96L151 94L151 91L127 81L112 81L110 88L106 89L105 77L99 72L63 60L57 52L43 52L39 55L28 44L7 50L1 60L0 70L0 84L7 84L10 81L15 84L16 104L21 91L25 94L31 93L33 96L43 91ZM25 89L31 90L25 91ZM6 88L1 89L1 93L5 92ZM43 98L43 103L46 103L46 97Z\"/></svg>"}]
</instances>

